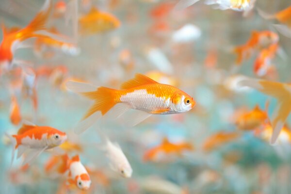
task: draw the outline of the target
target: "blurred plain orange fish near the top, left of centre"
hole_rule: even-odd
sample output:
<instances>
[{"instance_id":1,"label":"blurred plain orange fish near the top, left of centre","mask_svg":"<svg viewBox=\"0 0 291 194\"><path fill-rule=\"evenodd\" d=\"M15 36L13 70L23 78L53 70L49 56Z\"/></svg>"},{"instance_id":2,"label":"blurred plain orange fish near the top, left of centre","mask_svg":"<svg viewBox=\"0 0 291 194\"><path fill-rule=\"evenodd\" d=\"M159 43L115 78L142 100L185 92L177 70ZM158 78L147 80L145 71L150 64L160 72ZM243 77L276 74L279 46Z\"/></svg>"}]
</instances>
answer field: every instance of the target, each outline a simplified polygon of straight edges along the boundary
<instances>
[{"instance_id":1,"label":"blurred plain orange fish near the top, left of centre","mask_svg":"<svg viewBox=\"0 0 291 194\"><path fill-rule=\"evenodd\" d=\"M120 21L112 14L101 12L92 7L88 14L79 18L79 24L82 35L92 35L119 28Z\"/></svg>"}]
</instances>

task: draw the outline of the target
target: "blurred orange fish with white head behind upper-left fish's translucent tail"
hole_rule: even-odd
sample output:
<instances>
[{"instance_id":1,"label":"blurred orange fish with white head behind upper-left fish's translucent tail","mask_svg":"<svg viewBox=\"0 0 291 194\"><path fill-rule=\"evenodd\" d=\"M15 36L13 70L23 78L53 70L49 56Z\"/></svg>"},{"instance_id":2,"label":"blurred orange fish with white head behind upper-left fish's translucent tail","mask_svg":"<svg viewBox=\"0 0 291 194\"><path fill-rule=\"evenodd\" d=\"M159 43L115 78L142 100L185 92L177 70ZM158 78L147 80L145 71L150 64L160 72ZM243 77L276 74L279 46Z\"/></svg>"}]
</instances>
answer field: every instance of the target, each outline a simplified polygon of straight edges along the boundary
<instances>
[{"instance_id":1,"label":"blurred orange fish with white head behind upper-left fish's translucent tail","mask_svg":"<svg viewBox=\"0 0 291 194\"><path fill-rule=\"evenodd\" d=\"M56 36L60 35L60 33L54 27L50 28L48 32ZM46 56L48 56L49 58L53 55L53 53L46 51L46 48L52 48L56 51L62 51L68 55L78 55L80 53L80 49L75 44L55 40L50 37L38 37L35 40L34 52L39 56L44 56L45 58L47 58ZM47 52L49 53L47 54Z\"/></svg>"}]
</instances>

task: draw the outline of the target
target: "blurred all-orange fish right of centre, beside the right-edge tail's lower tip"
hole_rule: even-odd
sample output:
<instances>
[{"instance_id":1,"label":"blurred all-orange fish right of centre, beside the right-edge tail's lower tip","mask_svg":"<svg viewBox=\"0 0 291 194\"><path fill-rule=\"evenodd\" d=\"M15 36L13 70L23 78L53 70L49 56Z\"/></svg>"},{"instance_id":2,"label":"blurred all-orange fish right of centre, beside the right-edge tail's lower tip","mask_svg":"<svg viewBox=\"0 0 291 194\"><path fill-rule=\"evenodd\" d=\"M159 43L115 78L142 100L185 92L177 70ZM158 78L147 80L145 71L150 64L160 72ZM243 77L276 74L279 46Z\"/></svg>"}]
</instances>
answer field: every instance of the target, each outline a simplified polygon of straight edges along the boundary
<instances>
[{"instance_id":1,"label":"blurred all-orange fish right of centre, beside the right-edge tail's lower tip","mask_svg":"<svg viewBox=\"0 0 291 194\"><path fill-rule=\"evenodd\" d=\"M257 105L252 111L240 115L235 123L239 129L252 130L258 128L267 120L267 113Z\"/></svg>"}]
</instances>

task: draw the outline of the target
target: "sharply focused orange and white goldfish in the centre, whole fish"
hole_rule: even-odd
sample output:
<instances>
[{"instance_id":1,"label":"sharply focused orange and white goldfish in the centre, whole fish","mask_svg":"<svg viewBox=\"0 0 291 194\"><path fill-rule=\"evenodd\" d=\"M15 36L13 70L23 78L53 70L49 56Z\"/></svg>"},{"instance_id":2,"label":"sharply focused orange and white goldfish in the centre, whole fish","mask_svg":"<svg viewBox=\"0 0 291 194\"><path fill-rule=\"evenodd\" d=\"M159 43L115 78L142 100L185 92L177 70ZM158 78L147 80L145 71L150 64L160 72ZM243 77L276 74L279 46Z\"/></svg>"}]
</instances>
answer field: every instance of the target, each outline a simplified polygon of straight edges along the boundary
<instances>
[{"instance_id":1,"label":"sharply focused orange and white goldfish in the centre, whole fish","mask_svg":"<svg viewBox=\"0 0 291 194\"><path fill-rule=\"evenodd\" d=\"M83 121L75 128L76 133L88 129L117 104L116 111L111 112L115 114L112 115L113 118L118 118L129 109L136 110L137 113L132 115L129 121L132 126L152 114L184 113L195 105L193 97L185 92L174 86L158 83L142 74L136 74L134 79L124 82L121 90L72 81L67 82L66 86L73 92L95 100Z\"/></svg>"}]
</instances>

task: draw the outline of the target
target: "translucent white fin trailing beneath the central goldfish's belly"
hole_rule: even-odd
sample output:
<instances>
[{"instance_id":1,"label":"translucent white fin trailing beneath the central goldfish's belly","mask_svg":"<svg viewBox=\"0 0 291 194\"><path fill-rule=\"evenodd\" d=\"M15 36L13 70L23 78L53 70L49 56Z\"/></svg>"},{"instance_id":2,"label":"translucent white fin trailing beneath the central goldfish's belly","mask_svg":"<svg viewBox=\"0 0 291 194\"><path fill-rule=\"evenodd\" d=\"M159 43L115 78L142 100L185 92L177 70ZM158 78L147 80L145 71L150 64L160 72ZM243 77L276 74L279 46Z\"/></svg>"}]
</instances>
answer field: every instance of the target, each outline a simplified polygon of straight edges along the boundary
<instances>
[{"instance_id":1,"label":"translucent white fin trailing beneath the central goldfish's belly","mask_svg":"<svg viewBox=\"0 0 291 194\"><path fill-rule=\"evenodd\" d=\"M137 124L143 122L148 117L150 117L151 113L146 113L144 111L134 110L134 114L130 114L129 117L126 118L120 118L122 119L122 122L129 127L136 126Z\"/></svg>"}]
</instances>

